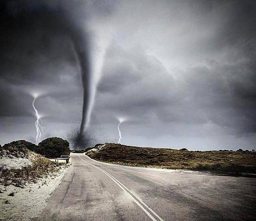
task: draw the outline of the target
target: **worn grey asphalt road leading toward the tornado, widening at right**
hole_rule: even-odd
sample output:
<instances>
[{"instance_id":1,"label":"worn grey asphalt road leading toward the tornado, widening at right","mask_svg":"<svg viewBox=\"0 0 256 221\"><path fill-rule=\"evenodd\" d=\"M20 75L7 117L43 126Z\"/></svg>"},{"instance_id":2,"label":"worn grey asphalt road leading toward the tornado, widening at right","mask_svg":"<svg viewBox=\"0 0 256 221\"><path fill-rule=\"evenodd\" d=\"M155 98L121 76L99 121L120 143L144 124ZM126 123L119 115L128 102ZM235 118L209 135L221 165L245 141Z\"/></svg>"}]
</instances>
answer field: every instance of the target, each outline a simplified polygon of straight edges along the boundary
<instances>
[{"instance_id":1,"label":"worn grey asphalt road leading toward the tornado, widening at right","mask_svg":"<svg viewBox=\"0 0 256 221\"><path fill-rule=\"evenodd\" d=\"M72 154L43 221L256 220L256 178L110 165Z\"/></svg>"}]
</instances>

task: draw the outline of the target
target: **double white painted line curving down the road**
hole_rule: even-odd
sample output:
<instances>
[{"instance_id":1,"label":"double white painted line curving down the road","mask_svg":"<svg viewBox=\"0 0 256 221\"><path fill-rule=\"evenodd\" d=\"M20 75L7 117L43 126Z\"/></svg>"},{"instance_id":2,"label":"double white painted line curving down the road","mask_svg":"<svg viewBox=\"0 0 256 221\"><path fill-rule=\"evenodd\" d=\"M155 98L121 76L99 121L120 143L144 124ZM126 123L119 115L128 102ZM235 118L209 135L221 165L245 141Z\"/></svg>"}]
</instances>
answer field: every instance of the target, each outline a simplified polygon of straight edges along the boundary
<instances>
[{"instance_id":1,"label":"double white painted line curving down the road","mask_svg":"<svg viewBox=\"0 0 256 221\"><path fill-rule=\"evenodd\" d=\"M82 159L82 157L79 155L80 159ZM164 221L159 215L157 215L148 205L146 205L146 203L144 203L139 197L137 197L134 193L132 193L132 191L130 191L124 184L122 184L120 181L118 181L115 177L113 177L112 175L110 175L108 172L104 171L104 169L101 169L100 167L97 167L91 163L88 163L87 161L85 161L84 159L82 159L82 161L84 161L85 163L97 168L98 170L102 171L102 173L105 173L110 179L112 179L123 191L125 191L126 193L128 193L128 195L130 195L130 197L132 198L132 200L134 201L134 203L136 203L147 215L148 217L150 217L150 219L152 219L153 221L158 221L157 219L155 219L150 213L153 213L160 221ZM147 211L142 205L144 205L144 207L146 207L149 211Z\"/></svg>"}]
</instances>

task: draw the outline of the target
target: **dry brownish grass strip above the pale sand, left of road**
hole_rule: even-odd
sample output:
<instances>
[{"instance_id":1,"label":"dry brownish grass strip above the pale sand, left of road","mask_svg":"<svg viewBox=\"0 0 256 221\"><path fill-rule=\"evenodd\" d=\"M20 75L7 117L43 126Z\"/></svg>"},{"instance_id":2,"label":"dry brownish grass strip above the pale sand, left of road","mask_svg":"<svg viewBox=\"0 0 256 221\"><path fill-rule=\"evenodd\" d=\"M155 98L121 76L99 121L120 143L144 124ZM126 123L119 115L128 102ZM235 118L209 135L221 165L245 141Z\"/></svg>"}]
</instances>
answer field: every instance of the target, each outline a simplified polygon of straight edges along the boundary
<instances>
[{"instance_id":1,"label":"dry brownish grass strip above the pale sand, left of road","mask_svg":"<svg viewBox=\"0 0 256 221\"><path fill-rule=\"evenodd\" d=\"M55 163L40 155L36 156L32 165L20 169L6 169L0 167L0 184L22 186L29 182L36 182L39 178L56 173L62 164Z\"/></svg>"}]
</instances>

